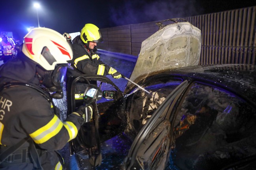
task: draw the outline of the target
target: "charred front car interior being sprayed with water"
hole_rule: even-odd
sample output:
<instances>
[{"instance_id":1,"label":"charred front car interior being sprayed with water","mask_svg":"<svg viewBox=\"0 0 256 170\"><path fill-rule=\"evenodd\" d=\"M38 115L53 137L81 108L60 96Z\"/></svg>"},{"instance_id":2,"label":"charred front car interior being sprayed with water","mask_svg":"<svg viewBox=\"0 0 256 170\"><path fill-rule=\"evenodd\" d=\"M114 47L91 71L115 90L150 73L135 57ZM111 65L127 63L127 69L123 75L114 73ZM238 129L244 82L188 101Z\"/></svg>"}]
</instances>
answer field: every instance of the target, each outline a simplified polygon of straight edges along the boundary
<instances>
[{"instance_id":1,"label":"charred front car interior being sprayed with water","mask_svg":"<svg viewBox=\"0 0 256 170\"><path fill-rule=\"evenodd\" d=\"M152 76L143 83L150 94L137 89L127 97L127 114L130 116L130 125L136 135L158 106L181 82L181 78L170 78L166 75Z\"/></svg>"}]
</instances>

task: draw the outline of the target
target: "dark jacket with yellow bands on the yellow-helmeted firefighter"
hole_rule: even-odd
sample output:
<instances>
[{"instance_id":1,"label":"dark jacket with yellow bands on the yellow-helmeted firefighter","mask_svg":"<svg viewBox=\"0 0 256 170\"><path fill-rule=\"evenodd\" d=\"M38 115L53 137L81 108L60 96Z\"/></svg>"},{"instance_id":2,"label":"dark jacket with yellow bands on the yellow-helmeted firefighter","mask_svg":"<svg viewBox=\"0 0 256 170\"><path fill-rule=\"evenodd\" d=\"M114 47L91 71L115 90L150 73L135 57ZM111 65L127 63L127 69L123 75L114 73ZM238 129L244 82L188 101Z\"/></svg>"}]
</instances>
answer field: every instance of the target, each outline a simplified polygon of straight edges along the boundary
<instances>
[{"instance_id":1,"label":"dark jacket with yellow bands on the yellow-helmeted firefighter","mask_svg":"<svg viewBox=\"0 0 256 170\"><path fill-rule=\"evenodd\" d=\"M89 52L81 40L80 35L77 35L73 39L72 48L72 65L77 71L77 74L109 75L110 67L100 60L100 56L96 54L96 47Z\"/></svg>"}]
</instances>

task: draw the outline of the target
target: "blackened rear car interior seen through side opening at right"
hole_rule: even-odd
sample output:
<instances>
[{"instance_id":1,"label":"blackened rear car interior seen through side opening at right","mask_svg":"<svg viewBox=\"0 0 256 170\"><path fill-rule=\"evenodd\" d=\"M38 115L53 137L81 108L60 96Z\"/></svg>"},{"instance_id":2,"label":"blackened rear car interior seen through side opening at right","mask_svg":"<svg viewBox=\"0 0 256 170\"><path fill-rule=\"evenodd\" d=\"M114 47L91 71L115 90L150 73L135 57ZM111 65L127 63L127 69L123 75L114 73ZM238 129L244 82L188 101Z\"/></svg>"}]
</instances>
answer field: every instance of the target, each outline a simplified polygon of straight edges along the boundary
<instances>
[{"instance_id":1,"label":"blackened rear car interior seen through side opening at right","mask_svg":"<svg viewBox=\"0 0 256 170\"><path fill-rule=\"evenodd\" d=\"M173 167L201 170L255 164L255 114L227 90L193 83L172 121Z\"/></svg>"}]
</instances>

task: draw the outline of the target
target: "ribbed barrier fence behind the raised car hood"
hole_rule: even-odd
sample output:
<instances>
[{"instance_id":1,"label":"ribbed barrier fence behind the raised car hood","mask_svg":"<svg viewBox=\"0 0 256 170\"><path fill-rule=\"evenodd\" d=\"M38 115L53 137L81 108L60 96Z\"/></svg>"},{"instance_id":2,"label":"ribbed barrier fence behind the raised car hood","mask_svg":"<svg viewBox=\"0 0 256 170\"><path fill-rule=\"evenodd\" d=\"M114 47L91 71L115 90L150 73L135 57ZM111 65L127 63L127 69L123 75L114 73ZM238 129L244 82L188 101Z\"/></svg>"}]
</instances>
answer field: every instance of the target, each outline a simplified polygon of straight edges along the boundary
<instances>
[{"instance_id":1,"label":"ribbed barrier fence behind the raised car hood","mask_svg":"<svg viewBox=\"0 0 256 170\"><path fill-rule=\"evenodd\" d=\"M200 65L256 64L256 6L184 19L201 30ZM104 42L98 47L138 56L142 41L158 31L156 22L101 29Z\"/></svg>"}]
</instances>

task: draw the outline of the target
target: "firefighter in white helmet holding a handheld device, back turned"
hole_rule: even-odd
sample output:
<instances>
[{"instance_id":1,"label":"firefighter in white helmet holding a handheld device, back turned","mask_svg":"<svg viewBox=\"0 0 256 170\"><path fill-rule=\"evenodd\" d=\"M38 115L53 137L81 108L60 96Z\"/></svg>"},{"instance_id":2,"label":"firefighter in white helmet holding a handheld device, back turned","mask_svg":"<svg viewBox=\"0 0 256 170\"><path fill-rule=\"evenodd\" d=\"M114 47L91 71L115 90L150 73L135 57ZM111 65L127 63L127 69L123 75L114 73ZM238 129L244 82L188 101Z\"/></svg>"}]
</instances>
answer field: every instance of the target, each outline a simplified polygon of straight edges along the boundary
<instances>
[{"instance_id":1,"label":"firefighter in white helmet holding a handheld device, back turned","mask_svg":"<svg viewBox=\"0 0 256 170\"><path fill-rule=\"evenodd\" d=\"M62 84L73 52L58 32L34 28L24 37L17 58L0 66L0 169L62 170L57 150L74 139L92 108L81 106L60 120L53 98Z\"/></svg>"}]
</instances>

